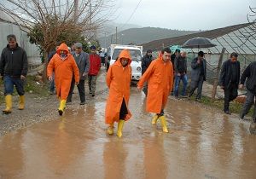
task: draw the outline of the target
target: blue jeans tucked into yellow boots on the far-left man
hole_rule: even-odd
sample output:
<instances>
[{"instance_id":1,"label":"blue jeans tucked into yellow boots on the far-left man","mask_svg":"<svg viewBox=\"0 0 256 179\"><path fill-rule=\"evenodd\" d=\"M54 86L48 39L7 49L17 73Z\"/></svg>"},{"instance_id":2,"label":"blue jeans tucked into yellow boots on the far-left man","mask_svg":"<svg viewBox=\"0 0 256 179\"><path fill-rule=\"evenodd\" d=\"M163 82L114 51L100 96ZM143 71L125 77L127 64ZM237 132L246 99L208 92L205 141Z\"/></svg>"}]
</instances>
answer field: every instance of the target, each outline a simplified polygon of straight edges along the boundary
<instances>
[{"instance_id":1,"label":"blue jeans tucked into yellow boots on the far-left man","mask_svg":"<svg viewBox=\"0 0 256 179\"><path fill-rule=\"evenodd\" d=\"M12 95L14 93L14 86L19 95L24 95L24 80L21 80L20 77L10 77L8 75L3 77L4 83L4 95Z\"/></svg>"}]
</instances>

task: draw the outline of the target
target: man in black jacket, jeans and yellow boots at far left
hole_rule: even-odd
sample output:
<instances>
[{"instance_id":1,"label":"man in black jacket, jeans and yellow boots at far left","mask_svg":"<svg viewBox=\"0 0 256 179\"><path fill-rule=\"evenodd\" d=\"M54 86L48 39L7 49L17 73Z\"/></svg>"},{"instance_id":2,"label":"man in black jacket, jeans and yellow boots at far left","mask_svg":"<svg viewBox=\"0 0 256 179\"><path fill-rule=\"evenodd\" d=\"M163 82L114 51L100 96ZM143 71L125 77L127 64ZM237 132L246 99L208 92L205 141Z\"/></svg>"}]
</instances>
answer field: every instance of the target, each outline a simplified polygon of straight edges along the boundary
<instances>
[{"instance_id":1,"label":"man in black jacket, jeans and yellow boots at far left","mask_svg":"<svg viewBox=\"0 0 256 179\"><path fill-rule=\"evenodd\" d=\"M12 94L14 86L20 95L19 109L25 107L25 91L24 80L27 73L26 51L19 47L16 37L13 34L7 36L8 45L3 49L0 59L0 78L3 77L4 95L6 108L4 114L11 113L12 110Z\"/></svg>"}]
</instances>

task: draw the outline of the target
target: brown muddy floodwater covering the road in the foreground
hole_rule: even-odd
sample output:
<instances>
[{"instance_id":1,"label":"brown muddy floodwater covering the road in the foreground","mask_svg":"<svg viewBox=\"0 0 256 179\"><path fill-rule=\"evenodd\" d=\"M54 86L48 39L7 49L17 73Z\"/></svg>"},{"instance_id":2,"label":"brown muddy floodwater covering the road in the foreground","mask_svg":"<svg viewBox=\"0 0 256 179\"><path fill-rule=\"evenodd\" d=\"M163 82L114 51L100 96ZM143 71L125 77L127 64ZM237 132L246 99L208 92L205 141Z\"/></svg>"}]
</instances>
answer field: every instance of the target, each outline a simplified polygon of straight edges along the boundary
<instances>
[{"instance_id":1,"label":"brown muddy floodwater covering the road in the foreground","mask_svg":"<svg viewBox=\"0 0 256 179\"><path fill-rule=\"evenodd\" d=\"M256 178L247 122L170 99L164 134L132 88L133 117L119 139L105 132L106 96L0 138L0 178Z\"/></svg>"}]
</instances>

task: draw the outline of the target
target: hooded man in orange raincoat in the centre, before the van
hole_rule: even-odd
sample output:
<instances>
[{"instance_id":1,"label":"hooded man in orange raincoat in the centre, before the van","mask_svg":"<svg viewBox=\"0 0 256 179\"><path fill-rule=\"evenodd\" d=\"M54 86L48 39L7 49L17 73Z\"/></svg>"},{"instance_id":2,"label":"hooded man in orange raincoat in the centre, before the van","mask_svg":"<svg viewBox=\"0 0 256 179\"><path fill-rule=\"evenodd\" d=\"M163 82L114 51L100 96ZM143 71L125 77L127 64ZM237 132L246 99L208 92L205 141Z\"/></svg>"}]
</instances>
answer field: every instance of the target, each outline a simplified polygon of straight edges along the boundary
<instances>
[{"instance_id":1,"label":"hooded man in orange raincoat in the centre, before the van","mask_svg":"<svg viewBox=\"0 0 256 179\"><path fill-rule=\"evenodd\" d=\"M131 118L128 109L131 84L131 55L123 49L117 61L109 67L106 82L109 88L105 111L105 123L109 124L108 134L113 135L113 123L118 122L117 136L122 136L125 121Z\"/></svg>"}]
</instances>

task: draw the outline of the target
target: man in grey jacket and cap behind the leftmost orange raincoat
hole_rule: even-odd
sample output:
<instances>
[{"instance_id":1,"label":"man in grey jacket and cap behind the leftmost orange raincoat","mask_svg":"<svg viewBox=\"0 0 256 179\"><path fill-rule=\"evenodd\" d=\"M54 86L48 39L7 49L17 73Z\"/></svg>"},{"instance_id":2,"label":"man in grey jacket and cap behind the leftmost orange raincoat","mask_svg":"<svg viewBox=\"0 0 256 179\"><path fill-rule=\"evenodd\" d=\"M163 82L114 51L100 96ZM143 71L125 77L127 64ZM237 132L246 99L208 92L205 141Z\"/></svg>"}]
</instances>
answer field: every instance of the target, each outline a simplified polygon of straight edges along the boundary
<instances>
[{"instance_id":1,"label":"man in grey jacket and cap behind the leftmost orange raincoat","mask_svg":"<svg viewBox=\"0 0 256 179\"><path fill-rule=\"evenodd\" d=\"M83 51L82 43L75 43L74 44L75 51L72 52L73 58L76 61L77 66L79 67L79 84L77 85L79 90L80 96L80 105L85 104L85 90L84 90L84 80L85 77L88 75L90 69L90 61L89 61L89 54ZM70 86L70 90L67 96L67 102L72 101L73 95L73 88L75 85L75 80L73 78Z\"/></svg>"}]
</instances>

